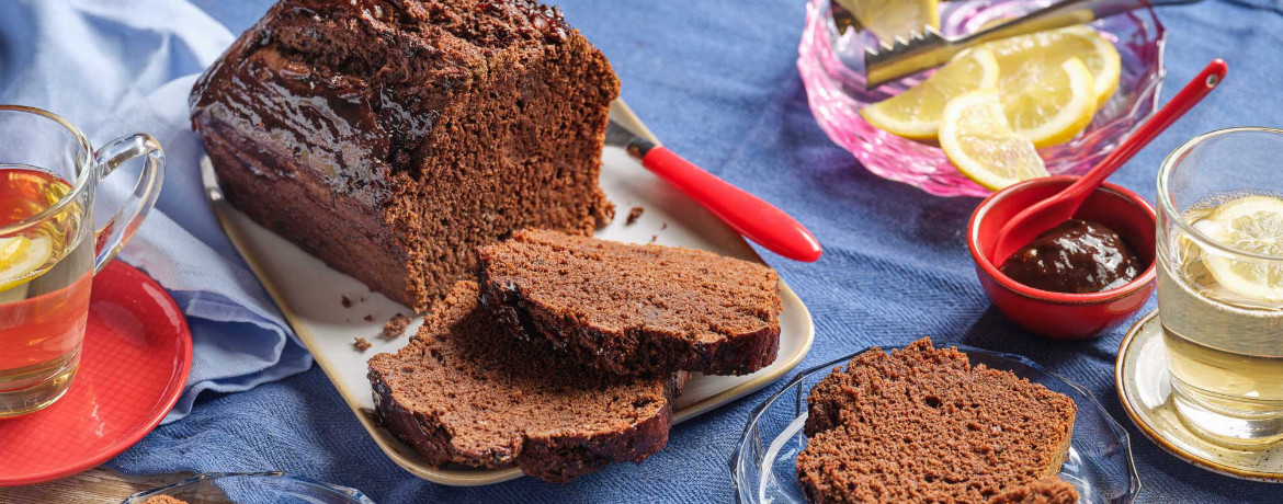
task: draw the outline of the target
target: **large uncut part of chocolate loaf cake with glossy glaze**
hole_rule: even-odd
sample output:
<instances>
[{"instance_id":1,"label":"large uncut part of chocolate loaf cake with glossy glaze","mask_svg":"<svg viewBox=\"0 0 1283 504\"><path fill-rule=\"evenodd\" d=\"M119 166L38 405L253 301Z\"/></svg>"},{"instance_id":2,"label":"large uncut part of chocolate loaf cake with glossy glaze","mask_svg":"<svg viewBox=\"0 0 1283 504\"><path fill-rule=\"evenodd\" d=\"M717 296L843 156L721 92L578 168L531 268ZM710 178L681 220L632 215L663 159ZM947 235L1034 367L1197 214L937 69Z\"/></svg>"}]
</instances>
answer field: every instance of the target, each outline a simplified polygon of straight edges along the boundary
<instances>
[{"instance_id":1,"label":"large uncut part of chocolate loaf cake with glossy glaze","mask_svg":"<svg viewBox=\"0 0 1283 504\"><path fill-rule=\"evenodd\" d=\"M284 0L191 94L227 200L425 310L473 250L590 233L618 80L530 0Z\"/></svg>"}]
</instances>

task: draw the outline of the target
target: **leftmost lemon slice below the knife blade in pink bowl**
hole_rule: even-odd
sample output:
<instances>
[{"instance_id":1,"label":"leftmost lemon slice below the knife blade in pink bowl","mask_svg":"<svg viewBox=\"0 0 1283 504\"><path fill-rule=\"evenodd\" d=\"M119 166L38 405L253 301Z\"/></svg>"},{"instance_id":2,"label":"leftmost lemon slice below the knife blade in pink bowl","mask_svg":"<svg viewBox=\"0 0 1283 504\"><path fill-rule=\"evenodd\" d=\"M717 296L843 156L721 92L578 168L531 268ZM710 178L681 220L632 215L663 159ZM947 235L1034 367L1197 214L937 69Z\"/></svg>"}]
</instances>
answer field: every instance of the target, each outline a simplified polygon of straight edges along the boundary
<instances>
[{"instance_id":1,"label":"leftmost lemon slice below the knife blade in pink bowl","mask_svg":"<svg viewBox=\"0 0 1283 504\"><path fill-rule=\"evenodd\" d=\"M998 83L993 53L976 47L958 54L917 86L860 112L876 128L912 140L934 140L944 105L955 96Z\"/></svg>"}]
</instances>

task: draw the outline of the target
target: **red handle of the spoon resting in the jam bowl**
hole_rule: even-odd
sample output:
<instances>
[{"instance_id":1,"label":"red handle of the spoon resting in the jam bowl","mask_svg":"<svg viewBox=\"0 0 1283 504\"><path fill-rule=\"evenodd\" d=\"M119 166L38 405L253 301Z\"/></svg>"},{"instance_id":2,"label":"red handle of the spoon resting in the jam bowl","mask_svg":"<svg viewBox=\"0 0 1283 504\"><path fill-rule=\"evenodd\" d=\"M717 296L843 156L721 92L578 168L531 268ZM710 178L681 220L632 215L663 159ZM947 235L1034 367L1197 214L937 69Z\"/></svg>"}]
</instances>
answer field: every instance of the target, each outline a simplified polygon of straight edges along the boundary
<instances>
[{"instance_id":1,"label":"red handle of the spoon resting in the jam bowl","mask_svg":"<svg viewBox=\"0 0 1283 504\"><path fill-rule=\"evenodd\" d=\"M1150 121L1141 126L1129 139L1126 139L1123 145L1115 149L1110 155L1107 155L1100 164L1096 165L1091 172L1088 172L1083 178L1079 178L1074 185L1065 190L1065 199L1085 200L1087 196L1096 190L1109 176L1114 174L1123 164L1132 159L1141 149L1144 149L1159 133L1168 130L1171 123L1177 122L1185 112L1189 112L1203 96L1207 96L1211 90L1216 88L1220 81L1225 80L1225 72L1229 67L1225 60L1216 58L1211 60L1198 72L1189 83L1185 85L1177 96L1171 97L1166 105L1153 114ZM1075 205L1076 208L1076 205Z\"/></svg>"}]
</instances>

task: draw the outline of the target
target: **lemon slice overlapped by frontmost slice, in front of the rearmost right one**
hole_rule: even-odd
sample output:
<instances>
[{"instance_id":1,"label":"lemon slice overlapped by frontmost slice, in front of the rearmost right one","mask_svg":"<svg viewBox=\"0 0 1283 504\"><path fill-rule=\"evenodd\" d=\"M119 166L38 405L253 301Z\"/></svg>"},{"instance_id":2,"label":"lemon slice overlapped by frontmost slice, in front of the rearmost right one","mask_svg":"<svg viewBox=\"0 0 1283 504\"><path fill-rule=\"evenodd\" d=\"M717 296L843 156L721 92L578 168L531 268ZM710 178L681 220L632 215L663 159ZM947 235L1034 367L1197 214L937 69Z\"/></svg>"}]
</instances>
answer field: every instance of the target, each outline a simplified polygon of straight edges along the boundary
<instances>
[{"instance_id":1,"label":"lemon slice overlapped by frontmost slice, in front of the rearmost right one","mask_svg":"<svg viewBox=\"0 0 1283 504\"><path fill-rule=\"evenodd\" d=\"M998 78L1007 123L1035 147L1064 144L1096 115L1092 82L1092 71L1078 58L1058 63L1029 59Z\"/></svg>"}]
</instances>

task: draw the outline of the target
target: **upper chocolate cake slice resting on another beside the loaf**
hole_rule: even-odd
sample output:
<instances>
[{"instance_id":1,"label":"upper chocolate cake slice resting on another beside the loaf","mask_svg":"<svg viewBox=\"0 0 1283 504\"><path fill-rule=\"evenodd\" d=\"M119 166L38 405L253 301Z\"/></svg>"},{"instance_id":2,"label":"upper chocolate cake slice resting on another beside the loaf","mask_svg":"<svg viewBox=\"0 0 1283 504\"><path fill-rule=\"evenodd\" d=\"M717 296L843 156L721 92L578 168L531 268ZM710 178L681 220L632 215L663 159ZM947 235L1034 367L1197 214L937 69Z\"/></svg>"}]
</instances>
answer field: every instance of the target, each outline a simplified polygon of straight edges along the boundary
<instances>
[{"instance_id":1,"label":"upper chocolate cake slice resting on another beside the loaf","mask_svg":"<svg viewBox=\"0 0 1283 504\"><path fill-rule=\"evenodd\" d=\"M744 374L775 360L779 278L717 254L523 230L484 246L481 304L615 374Z\"/></svg>"}]
</instances>

